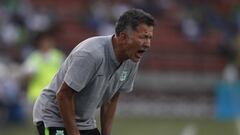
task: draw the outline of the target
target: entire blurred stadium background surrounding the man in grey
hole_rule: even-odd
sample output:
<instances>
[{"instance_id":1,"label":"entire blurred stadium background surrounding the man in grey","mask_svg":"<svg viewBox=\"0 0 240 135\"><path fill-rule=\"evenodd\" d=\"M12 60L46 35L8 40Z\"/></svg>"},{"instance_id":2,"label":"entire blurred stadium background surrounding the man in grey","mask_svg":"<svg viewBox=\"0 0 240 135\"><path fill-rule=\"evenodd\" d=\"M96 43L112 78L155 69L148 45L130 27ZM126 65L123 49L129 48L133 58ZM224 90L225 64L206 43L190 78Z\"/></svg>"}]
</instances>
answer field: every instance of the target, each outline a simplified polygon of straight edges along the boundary
<instances>
[{"instance_id":1,"label":"entire blurred stadium background surrounding the man in grey","mask_svg":"<svg viewBox=\"0 0 240 135\"><path fill-rule=\"evenodd\" d=\"M36 134L34 89L130 8L157 24L113 135L240 135L238 0L0 0L0 135Z\"/></svg>"}]
</instances>

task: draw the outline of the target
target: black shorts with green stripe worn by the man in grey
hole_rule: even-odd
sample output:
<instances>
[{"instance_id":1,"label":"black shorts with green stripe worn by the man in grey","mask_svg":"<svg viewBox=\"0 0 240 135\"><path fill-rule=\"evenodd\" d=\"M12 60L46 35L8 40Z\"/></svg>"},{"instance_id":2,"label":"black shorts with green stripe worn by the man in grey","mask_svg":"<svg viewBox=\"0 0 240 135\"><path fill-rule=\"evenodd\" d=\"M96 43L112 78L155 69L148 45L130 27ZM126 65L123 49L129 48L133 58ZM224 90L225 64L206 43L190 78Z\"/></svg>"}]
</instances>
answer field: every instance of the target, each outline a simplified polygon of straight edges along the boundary
<instances>
[{"instance_id":1,"label":"black shorts with green stripe worn by the man in grey","mask_svg":"<svg viewBox=\"0 0 240 135\"><path fill-rule=\"evenodd\" d=\"M49 127L45 128L42 121L37 123L37 130L39 135L67 135L63 127ZM81 135L101 135L97 128L91 130L81 130Z\"/></svg>"}]
</instances>

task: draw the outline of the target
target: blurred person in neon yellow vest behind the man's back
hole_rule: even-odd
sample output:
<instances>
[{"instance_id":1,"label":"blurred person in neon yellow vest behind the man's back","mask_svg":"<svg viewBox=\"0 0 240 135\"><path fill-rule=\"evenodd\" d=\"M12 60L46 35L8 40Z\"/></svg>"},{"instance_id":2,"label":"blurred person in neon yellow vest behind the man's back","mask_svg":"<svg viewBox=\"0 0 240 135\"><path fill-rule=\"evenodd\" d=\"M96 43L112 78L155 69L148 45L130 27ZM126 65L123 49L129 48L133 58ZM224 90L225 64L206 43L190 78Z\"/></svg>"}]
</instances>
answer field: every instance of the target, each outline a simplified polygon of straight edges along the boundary
<instances>
[{"instance_id":1,"label":"blurred person in neon yellow vest behind the man's back","mask_svg":"<svg viewBox=\"0 0 240 135\"><path fill-rule=\"evenodd\" d=\"M64 60L64 54L55 48L55 41L49 33L41 33L36 38L37 50L23 63L27 80L27 99L35 102L42 89L51 81Z\"/></svg>"}]
</instances>

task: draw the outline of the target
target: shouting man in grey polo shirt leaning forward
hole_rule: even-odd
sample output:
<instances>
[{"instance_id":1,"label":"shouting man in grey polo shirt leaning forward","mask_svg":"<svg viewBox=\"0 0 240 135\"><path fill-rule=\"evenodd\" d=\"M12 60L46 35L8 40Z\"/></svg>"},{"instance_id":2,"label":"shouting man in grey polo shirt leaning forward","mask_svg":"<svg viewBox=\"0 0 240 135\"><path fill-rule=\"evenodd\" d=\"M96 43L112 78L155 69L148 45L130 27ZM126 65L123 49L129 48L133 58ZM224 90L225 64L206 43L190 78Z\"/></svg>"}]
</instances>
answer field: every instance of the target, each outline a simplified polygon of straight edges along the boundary
<instances>
[{"instance_id":1,"label":"shouting man in grey polo shirt leaning forward","mask_svg":"<svg viewBox=\"0 0 240 135\"><path fill-rule=\"evenodd\" d=\"M36 101L33 118L40 135L100 135L98 108L101 134L110 135L119 95L133 89L153 26L150 14L131 9L120 16L114 35L76 46Z\"/></svg>"}]
</instances>

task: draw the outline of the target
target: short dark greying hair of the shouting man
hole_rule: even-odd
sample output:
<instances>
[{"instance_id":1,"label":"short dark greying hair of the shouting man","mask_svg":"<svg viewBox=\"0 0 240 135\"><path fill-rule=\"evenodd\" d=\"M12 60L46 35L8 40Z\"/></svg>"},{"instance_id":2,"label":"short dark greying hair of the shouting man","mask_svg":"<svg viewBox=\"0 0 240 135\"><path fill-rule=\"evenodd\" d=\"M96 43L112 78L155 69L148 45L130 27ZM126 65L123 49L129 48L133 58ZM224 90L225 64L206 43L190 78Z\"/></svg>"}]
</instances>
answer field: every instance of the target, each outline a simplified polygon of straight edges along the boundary
<instances>
[{"instance_id":1,"label":"short dark greying hair of the shouting man","mask_svg":"<svg viewBox=\"0 0 240 135\"><path fill-rule=\"evenodd\" d=\"M130 9L119 17L116 23L115 32L117 36L119 36L119 34L127 30L128 27L135 30L140 24L154 26L155 20L152 15L141 9Z\"/></svg>"}]
</instances>

